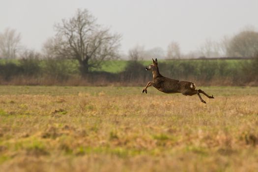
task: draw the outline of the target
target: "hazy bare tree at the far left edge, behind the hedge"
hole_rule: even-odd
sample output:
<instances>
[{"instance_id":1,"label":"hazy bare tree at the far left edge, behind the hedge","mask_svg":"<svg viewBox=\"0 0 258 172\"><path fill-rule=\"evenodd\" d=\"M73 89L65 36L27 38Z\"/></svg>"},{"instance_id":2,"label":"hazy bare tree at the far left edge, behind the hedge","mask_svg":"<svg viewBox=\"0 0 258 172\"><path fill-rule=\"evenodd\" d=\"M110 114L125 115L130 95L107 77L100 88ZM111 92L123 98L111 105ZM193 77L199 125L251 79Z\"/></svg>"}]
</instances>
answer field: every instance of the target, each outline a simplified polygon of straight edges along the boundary
<instances>
[{"instance_id":1,"label":"hazy bare tree at the far left edge, behind the hedge","mask_svg":"<svg viewBox=\"0 0 258 172\"><path fill-rule=\"evenodd\" d=\"M16 58L20 41L20 33L17 33L15 29L5 29L3 33L0 33L0 57Z\"/></svg>"}]
</instances>

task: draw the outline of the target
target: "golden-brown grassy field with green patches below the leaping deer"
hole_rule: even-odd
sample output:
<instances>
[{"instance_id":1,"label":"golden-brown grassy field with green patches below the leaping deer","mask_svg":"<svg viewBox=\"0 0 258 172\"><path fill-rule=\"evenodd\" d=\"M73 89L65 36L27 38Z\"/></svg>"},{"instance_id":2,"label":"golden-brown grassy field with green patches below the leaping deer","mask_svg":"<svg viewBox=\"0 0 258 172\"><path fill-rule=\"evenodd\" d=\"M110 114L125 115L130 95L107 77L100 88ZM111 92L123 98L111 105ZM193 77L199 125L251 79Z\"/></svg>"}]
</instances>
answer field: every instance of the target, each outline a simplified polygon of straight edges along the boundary
<instances>
[{"instance_id":1,"label":"golden-brown grassy field with green patches below the leaping deer","mask_svg":"<svg viewBox=\"0 0 258 172\"><path fill-rule=\"evenodd\" d=\"M2 172L255 172L258 87L0 86Z\"/></svg>"}]
</instances>

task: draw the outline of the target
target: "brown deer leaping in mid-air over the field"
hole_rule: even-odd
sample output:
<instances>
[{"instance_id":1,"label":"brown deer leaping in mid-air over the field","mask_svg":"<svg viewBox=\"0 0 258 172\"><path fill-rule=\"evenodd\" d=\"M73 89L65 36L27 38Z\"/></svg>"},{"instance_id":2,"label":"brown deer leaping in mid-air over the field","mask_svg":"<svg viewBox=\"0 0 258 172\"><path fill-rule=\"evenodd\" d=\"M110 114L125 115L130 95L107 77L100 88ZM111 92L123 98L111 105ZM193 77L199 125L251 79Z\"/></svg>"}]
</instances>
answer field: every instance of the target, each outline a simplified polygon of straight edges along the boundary
<instances>
[{"instance_id":1,"label":"brown deer leaping in mid-air over the field","mask_svg":"<svg viewBox=\"0 0 258 172\"><path fill-rule=\"evenodd\" d=\"M158 67L158 60L157 58L154 60L152 58L153 63L150 64L148 67L145 69L148 71L152 72L153 75L153 82L148 82L148 84L143 88L142 93L147 94L147 87L153 86L157 90L164 92L164 93L182 93L183 95L195 95L197 94L201 100L202 103L206 103L202 98L200 93L204 94L206 97L213 99L213 95L210 96L206 94L204 91L201 89L196 89L196 85L192 82L187 82L187 81L179 81L179 80L173 80L167 77L164 77L160 74L159 72L159 67Z\"/></svg>"}]
</instances>

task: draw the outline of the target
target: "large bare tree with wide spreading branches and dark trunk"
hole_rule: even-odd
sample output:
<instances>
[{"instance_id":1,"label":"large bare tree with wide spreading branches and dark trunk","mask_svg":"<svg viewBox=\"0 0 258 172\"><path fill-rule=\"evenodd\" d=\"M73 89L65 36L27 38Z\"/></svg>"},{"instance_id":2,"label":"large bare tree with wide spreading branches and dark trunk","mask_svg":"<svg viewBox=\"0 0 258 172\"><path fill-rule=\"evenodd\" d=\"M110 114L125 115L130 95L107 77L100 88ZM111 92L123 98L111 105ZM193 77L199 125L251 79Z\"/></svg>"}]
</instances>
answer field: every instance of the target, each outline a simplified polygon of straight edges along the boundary
<instances>
[{"instance_id":1,"label":"large bare tree with wide spreading branches and dark trunk","mask_svg":"<svg viewBox=\"0 0 258 172\"><path fill-rule=\"evenodd\" d=\"M54 57L78 60L82 75L100 67L103 60L119 56L121 36L96 24L95 17L86 9L78 9L74 17L63 19L55 29L57 34L48 40L45 50Z\"/></svg>"}]
</instances>

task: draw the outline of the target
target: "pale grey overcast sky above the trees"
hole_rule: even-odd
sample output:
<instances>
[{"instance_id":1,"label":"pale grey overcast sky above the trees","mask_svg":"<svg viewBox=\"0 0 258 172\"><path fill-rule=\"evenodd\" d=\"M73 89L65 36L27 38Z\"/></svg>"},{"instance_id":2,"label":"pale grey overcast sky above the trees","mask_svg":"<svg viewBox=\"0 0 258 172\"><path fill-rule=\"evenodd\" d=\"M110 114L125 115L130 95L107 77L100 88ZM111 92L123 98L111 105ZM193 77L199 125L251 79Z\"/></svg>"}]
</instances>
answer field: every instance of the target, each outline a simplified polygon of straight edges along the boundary
<instances>
[{"instance_id":1,"label":"pale grey overcast sky above the trees","mask_svg":"<svg viewBox=\"0 0 258 172\"><path fill-rule=\"evenodd\" d=\"M220 41L247 26L258 29L258 0L0 0L0 32L16 29L22 44L41 51L55 23L89 10L97 23L122 34L120 51L179 43L182 53L206 39Z\"/></svg>"}]
</instances>

